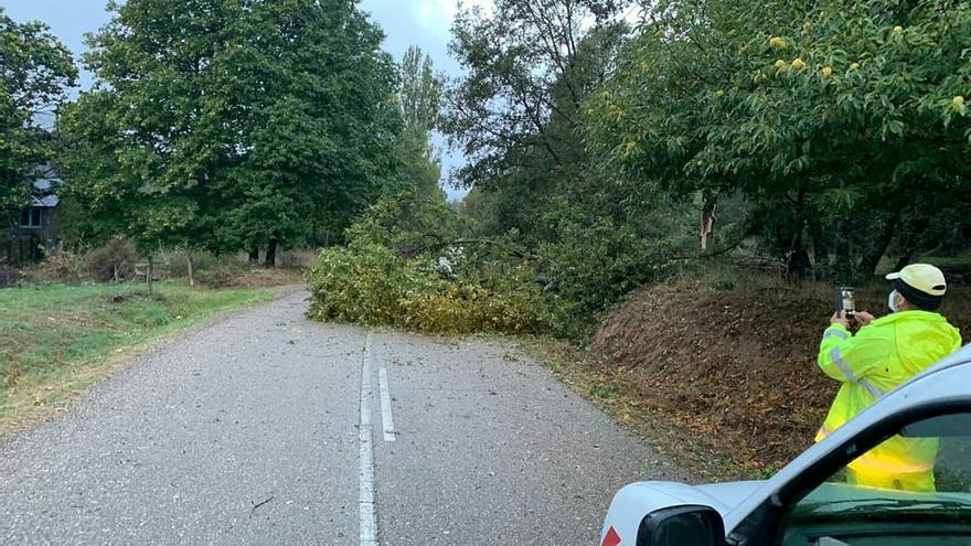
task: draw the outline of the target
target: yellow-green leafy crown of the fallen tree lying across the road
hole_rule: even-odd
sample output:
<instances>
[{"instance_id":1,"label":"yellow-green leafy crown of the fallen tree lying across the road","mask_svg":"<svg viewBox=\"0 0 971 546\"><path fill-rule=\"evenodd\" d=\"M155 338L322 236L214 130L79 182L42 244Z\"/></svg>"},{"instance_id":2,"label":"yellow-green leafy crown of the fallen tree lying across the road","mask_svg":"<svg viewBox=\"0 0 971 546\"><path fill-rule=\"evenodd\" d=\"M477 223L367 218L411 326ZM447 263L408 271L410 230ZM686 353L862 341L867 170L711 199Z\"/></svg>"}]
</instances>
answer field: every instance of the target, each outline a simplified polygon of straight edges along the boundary
<instances>
[{"instance_id":1,"label":"yellow-green leafy crown of the fallen tree lying across the road","mask_svg":"<svg viewBox=\"0 0 971 546\"><path fill-rule=\"evenodd\" d=\"M469 239L444 200L383 197L348 229L349 245L307 272L316 320L427 333L541 333L552 317L525 253Z\"/></svg>"}]
</instances>

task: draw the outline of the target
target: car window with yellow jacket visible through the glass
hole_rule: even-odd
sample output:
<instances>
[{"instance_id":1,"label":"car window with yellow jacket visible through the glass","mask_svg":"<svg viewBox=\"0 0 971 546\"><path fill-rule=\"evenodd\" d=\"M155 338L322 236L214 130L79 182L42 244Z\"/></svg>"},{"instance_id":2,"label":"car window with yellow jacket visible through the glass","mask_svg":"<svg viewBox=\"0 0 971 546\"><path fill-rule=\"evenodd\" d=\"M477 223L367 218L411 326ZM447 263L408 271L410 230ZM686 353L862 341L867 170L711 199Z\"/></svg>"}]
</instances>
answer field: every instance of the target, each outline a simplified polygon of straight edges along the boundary
<instances>
[{"instance_id":1,"label":"car window with yellow jacket visible through the glass","mask_svg":"<svg viewBox=\"0 0 971 546\"><path fill-rule=\"evenodd\" d=\"M802 499L783 546L971 544L971 414L909 425Z\"/></svg>"}]
</instances>

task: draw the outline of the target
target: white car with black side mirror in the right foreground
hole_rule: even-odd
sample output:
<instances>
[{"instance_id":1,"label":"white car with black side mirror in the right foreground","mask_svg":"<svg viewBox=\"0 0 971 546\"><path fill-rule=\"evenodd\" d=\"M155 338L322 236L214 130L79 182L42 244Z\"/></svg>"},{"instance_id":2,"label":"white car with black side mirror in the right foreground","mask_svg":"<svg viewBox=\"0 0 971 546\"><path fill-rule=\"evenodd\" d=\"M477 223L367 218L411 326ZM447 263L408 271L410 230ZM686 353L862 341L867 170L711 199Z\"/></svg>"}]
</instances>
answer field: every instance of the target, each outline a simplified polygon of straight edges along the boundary
<instances>
[{"instance_id":1,"label":"white car with black side mirror in the right foreground","mask_svg":"<svg viewBox=\"0 0 971 546\"><path fill-rule=\"evenodd\" d=\"M896 435L940 439L936 493L845 483L851 461ZM600 544L971 545L971 345L888 393L769 480L621 489Z\"/></svg>"}]
</instances>

